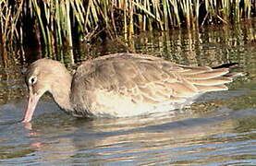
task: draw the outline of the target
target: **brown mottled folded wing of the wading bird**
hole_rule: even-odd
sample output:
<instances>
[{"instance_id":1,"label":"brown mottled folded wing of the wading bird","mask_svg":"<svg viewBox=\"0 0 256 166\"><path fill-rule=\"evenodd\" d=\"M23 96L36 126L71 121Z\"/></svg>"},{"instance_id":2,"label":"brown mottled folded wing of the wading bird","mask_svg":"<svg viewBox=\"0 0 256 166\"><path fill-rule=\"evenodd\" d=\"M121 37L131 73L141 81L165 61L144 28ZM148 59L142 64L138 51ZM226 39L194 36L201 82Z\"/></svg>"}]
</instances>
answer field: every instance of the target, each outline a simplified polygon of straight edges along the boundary
<instances>
[{"instance_id":1,"label":"brown mottled folded wing of the wading bird","mask_svg":"<svg viewBox=\"0 0 256 166\"><path fill-rule=\"evenodd\" d=\"M223 84L231 79L222 76L227 72L228 69L176 65L152 56L118 53L81 65L74 78L80 79L76 85L81 86L80 100L88 93L92 100L95 89L105 89L133 101L160 103L183 102L205 91L226 89Z\"/></svg>"}]
</instances>

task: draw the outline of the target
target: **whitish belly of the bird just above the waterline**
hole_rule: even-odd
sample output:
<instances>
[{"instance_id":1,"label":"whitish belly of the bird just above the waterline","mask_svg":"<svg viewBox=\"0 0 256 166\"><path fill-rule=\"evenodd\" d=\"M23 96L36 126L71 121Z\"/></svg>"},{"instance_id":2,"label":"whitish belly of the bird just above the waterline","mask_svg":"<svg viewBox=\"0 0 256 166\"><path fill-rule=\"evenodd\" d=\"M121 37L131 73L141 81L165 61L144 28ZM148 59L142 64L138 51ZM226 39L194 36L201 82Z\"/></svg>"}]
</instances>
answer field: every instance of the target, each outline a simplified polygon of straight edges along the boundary
<instances>
[{"instance_id":1,"label":"whitish belly of the bird just above the waterline","mask_svg":"<svg viewBox=\"0 0 256 166\"><path fill-rule=\"evenodd\" d=\"M91 101L90 113L93 116L128 117L147 113L159 113L176 110L192 101L135 101L132 97L99 92Z\"/></svg>"}]
</instances>

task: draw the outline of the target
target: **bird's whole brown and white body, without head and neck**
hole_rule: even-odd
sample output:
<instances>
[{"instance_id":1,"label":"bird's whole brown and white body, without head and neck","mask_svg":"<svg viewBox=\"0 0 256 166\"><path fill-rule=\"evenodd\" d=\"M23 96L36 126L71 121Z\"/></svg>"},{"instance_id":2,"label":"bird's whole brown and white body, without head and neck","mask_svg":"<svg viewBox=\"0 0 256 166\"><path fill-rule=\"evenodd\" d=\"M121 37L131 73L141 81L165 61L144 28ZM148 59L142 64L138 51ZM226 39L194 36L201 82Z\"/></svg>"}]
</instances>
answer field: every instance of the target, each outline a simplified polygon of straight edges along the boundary
<instances>
[{"instance_id":1,"label":"bird's whole brown and white body, without head and neck","mask_svg":"<svg viewBox=\"0 0 256 166\"><path fill-rule=\"evenodd\" d=\"M72 81L74 115L132 116L174 110L206 91L227 89L227 68L177 65L116 53L79 66Z\"/></svg>"}]
</instances>

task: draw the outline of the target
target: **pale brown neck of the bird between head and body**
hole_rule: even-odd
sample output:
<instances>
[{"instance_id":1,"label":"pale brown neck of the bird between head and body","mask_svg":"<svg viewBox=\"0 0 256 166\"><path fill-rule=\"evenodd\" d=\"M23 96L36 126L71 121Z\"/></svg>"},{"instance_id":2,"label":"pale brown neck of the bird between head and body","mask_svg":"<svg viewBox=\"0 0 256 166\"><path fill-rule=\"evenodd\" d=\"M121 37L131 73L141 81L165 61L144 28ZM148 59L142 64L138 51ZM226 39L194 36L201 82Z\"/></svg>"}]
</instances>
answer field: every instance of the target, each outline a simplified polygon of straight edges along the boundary
<instances>
[{"instance_id":1,"label":"pale brown neck of the bird between head and body","mask_svg":"<svg viewBox=\"0 0 256 166\"><path fill-rule=\"evenodd\" d=\"M72 104L70 103L71 83L72 76L67 72L65 76L59 76L55 80L52 91L50 91L55 102L66 112L73 111Z\"/></svg>"}]
</instances>

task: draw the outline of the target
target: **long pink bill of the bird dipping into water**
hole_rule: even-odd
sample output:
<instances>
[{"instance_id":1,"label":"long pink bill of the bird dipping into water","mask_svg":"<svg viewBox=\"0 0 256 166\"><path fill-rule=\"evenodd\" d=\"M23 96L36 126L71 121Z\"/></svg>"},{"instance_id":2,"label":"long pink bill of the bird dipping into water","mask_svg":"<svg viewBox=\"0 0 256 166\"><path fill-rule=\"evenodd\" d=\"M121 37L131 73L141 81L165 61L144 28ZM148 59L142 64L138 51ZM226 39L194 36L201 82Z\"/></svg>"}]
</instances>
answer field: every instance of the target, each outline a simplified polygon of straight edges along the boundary
<instances>
[{"instance_id":1,"label":"long pink bill of the bird dipping into water","mask_svg":"<svg viewBox=\"0 0 256 166\"><path fill-rule=\"evenodd\" d=\"M30 93L29 102L27 105L27 109L24 113L22 123L29 123L31 121L37 102L39 101L40 97L40 95Z\"/></svg>"}]
</instances>

